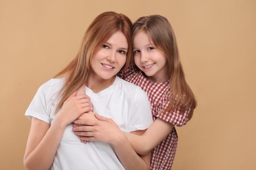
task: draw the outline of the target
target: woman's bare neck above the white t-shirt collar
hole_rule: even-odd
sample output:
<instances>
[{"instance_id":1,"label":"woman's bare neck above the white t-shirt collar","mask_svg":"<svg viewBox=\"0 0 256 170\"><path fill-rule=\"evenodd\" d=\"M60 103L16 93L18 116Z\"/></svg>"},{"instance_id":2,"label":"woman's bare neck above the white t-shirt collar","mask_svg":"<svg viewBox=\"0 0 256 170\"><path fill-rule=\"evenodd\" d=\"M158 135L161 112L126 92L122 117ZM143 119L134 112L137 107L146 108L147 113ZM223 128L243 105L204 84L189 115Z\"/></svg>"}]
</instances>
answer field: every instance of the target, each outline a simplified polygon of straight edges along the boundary
<instances>
[{"instance_id":1,"label":"woman's bare neck above the white t-shirt collar","mask_svg":"<svg viewBox=\"0 0 256 170\"><path fill-rule=\"evenodd\" d=\"M93 77L89 77L86 86L91 89L94 93L98 93L102 90L105 90L106 88L108 88L109 86L111 86L113 84L113 82L115 81L116 76L113 76L112 78L108 79L108 80L104 80L104 79L96 79Z\"/></svg>"}]
</instances>

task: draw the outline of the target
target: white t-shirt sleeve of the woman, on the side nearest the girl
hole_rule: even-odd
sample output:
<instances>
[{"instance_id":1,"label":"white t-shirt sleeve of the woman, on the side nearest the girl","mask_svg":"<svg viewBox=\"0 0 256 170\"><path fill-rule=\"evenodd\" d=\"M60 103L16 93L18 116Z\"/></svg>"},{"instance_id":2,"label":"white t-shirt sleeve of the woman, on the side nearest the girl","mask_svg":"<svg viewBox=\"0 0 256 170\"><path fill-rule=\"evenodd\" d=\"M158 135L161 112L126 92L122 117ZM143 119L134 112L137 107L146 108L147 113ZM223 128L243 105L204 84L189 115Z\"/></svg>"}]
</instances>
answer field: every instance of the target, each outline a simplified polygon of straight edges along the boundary
<instances>
[{"instance_id":1,"label":"white t-shirt sleeve of the woman, on the side nearest the girl","mask_svg":"<svg viewBox=\"0 0 256 170\"><path fill-rule=\"evenodd\" d=\"M148 95L138 86L131 106L131 122L129 131L147 129L153 122Z\"/></svg>"}]
</instances>

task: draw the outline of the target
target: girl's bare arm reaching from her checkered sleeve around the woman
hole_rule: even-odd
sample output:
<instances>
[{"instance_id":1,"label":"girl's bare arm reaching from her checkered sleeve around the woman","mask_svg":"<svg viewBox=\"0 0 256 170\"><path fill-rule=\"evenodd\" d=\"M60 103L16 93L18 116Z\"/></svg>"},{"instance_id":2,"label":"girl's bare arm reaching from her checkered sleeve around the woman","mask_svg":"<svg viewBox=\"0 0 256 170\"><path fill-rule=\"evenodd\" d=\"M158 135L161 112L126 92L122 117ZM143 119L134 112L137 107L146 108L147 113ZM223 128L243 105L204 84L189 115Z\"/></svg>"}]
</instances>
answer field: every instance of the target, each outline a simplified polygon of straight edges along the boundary
<instances>
[{"instance_id":1,"label":"girl's bare arm reaching from her checkered sleeve around the woman","mask_svg":"<svg viewBox=\"0 0 256 170\"><path fill-rule=\"evenodd\" d=\"M143 135L132 133L125 133L125 135L138 154L146 155L167 137L173 127L173 124L157 118Z\"/></svg>"}]
</instances>

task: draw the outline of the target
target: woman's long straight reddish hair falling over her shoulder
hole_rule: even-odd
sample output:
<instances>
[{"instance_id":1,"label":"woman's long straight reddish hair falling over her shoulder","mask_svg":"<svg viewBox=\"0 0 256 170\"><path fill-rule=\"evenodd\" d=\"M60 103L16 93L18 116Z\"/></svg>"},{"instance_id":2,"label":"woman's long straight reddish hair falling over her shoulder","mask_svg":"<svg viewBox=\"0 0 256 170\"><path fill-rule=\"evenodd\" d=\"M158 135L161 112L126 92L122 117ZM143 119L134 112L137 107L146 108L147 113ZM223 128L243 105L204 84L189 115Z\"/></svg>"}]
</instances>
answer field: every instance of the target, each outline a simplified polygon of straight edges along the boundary
<instances>
[{"instance_id":1,"label":"woman's long straight reddish hair falling over her shoulder","mask_svg":"<svg viewBox=\"0 0 256 170\"><path fill-rule=\"evenodd\" d=\"M88 76L92 70L91 58L93 54L117 31L121 31L127 39L127 58L121 70L127 69L132 58L131 27L132 22L127 16L112 11L103 12L93 20L85 32L77 56L54 76L54 78L66 76L66 82L60 90L60 103L58 103L56 111L62 107L64 101L72 93L87 83Z\"/></svg>"}]
</instances>

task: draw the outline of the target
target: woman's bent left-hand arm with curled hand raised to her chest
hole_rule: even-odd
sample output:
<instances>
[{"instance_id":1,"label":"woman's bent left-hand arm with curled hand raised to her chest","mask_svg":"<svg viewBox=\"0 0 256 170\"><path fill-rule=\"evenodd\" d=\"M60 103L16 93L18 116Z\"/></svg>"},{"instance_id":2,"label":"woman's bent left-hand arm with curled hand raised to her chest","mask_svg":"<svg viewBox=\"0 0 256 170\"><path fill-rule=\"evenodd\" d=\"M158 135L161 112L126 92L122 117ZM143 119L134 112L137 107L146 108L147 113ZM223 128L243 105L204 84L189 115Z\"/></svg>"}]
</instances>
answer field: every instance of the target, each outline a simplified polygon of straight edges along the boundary
<instances>
[{"instance_id":1,"label":"woman's bent left-hand arm with curled hand raised to her chest","mask_svg":"<svg viewBox=\"0 0 256 170\"><path fill-rule=\"evenodd\" d=\"M56 114L53 124L32 118L32 126L24 154L26 169L49 169L53 163L64 129L84 112L91 111L87 96L74 92Z\"/></svg>"}]
</instances>

